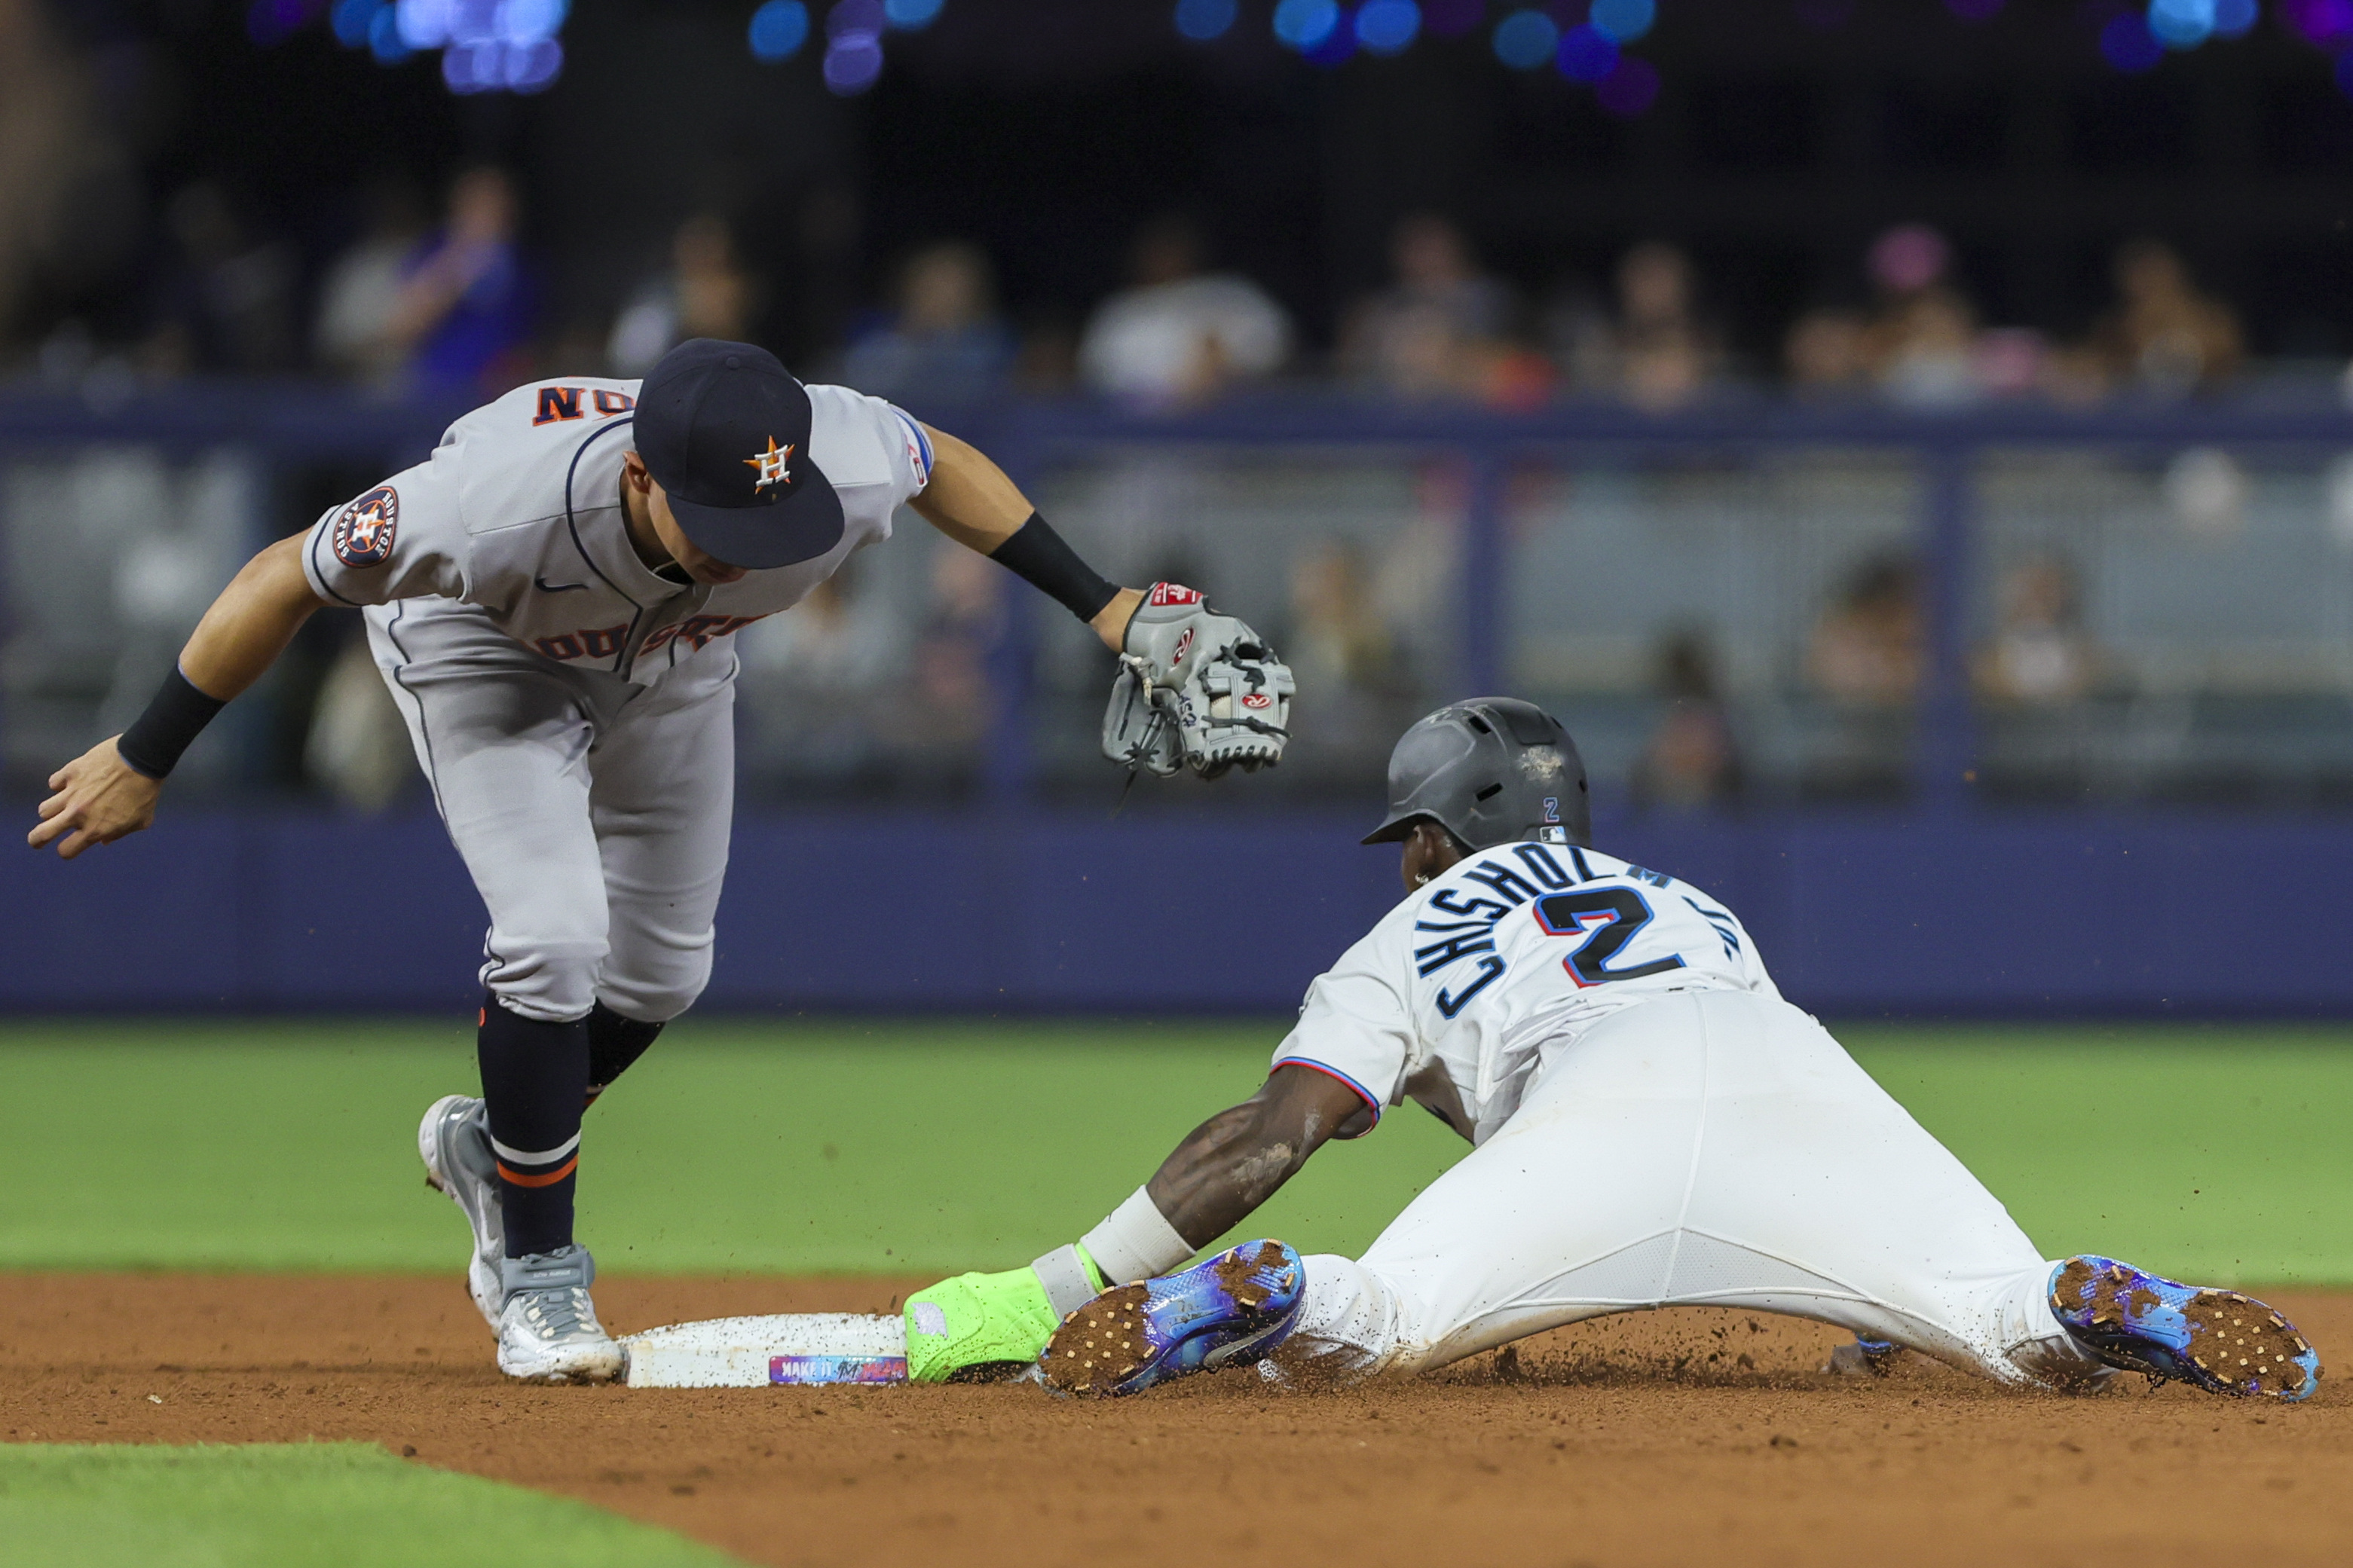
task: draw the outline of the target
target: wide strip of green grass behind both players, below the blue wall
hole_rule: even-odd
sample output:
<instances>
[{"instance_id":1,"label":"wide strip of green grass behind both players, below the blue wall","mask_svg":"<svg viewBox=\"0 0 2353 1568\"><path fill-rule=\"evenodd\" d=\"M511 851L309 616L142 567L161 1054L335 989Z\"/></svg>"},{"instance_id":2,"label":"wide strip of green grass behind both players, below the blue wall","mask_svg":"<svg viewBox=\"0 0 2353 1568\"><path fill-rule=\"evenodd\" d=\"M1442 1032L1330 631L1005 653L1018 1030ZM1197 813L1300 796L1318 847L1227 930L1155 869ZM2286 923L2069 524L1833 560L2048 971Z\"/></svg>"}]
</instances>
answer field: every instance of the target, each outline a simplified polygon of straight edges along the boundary
<instances>
[{"instance_id":1,"label":"wide strip of green grass behind both players, below the blue wall","mask_svg":"<svg viewBox=\"0 0 2353 1568\"><path fill-rule=\"evenodd\" d=\"M951 1272L1068 1241L1280 1025L685 1023L588 1121L605 1269ZM2353 1284L2353 1032L1845 1027L2052 1255ZM414 1126L471 1030L0 1027L0 1267L449 1269ZM1358 1251L1464 1145L1400 1110L1254 1232Z\"/></svg>"}]
</instances>

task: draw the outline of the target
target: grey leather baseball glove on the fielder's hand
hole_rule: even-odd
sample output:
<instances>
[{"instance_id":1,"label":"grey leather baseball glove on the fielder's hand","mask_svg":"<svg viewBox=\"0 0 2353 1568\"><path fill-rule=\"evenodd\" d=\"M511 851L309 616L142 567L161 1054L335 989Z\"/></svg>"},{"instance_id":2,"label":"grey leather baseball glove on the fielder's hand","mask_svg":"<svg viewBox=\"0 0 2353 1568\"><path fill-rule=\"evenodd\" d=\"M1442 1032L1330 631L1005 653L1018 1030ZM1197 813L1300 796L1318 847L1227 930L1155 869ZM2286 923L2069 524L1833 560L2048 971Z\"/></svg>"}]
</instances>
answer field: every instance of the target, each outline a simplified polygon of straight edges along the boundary
<instances>
[{"instance_id":1,"label":"grey leather baseball glove on the fielder's hand","mask_svg":"<svg viewBox=\"0 0 2353 1568\"><path fill-rule=\"evenodd\" d=\"M1176 583L1153 583L1127 623L1104 712L1104 755L1167 778L1282 762L1292 670L1266 639Z\"/></svg>"}]
</instances>

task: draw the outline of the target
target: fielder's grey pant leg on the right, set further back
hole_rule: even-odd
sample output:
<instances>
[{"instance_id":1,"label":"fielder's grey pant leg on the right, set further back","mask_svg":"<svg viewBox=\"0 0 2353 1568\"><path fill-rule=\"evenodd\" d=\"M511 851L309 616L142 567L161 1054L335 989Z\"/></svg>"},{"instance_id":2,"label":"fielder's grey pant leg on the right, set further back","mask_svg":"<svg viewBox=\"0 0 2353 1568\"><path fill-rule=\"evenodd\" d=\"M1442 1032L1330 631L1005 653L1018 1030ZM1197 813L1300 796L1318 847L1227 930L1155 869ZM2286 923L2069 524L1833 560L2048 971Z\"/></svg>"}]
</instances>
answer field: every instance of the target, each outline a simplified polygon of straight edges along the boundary
<instances>
[{"instance_id":1,"label":"fielder's grey pant leg on the right, set further back","mask_svg":"<svg viewBox=\"0 0 2353 1568\"><path fill-rule=\"evenodd\" d=\"M595 994L624 1018L668 1023L711 980L734 818L734 682L666 677L602 729L588 771L612 917Z\"/></svg>"}]
</instances>

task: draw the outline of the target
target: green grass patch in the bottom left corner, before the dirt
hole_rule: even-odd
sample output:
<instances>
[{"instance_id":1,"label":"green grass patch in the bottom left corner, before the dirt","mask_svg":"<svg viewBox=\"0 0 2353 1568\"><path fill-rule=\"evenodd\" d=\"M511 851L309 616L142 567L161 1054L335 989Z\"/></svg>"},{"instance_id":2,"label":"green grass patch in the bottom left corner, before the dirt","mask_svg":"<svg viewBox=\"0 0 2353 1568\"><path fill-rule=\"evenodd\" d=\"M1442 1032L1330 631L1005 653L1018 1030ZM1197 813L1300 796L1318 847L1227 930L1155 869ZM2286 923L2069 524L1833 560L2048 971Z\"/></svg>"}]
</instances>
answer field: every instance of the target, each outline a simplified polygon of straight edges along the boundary
<instances>
[{"instance_id":1,"label":"green grass patch in the bottom left corner, before the dirt","mask_svg":"<svg viewBox=\"0 0 2353 1568\"><path fill-rule=\"evenodd\" d=\"M732 1556L369 1443L0 1443L0 1568L722 1568Z\"/></svg>"}]
</instances>

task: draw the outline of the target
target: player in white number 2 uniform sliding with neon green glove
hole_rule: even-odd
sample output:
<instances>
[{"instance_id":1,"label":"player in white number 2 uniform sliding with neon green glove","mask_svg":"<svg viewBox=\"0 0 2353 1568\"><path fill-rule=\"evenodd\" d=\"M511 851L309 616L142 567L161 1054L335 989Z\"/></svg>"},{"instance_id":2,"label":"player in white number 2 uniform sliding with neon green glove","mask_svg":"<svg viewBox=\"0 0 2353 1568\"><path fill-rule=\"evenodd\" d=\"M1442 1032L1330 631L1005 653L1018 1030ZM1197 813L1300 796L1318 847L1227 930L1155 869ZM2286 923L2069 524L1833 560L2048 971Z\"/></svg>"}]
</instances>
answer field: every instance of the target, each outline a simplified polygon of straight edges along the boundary
<instances>
[{"instance_id":1,"label":"player in white number 2 uniform sliding with neon green glove","mask_svg":"<svg viewBox=\"0 0 2353 1568\"><path fill-rule=\"evenodd\" d=\"M1367 844L1402 844L1407 898L1315 980L1264 1088L1075 1246L918 1293L913 1378L1042 1345L1073 1394L1261 1359L1346 1382L1711 1305L1838 1324L1864 1366L1911 1347L2024 1387L2129 1368L2311 1396L2320 1359L2264 1302L2042 1258L1781 999L1732 910L1591 846L1584 764L1541 710L1433 712L1388 797ZM1252 1241L1169 1274L1405 1100L1475 1147L1360 1260Z\"/></svg>"}]
</instances>

